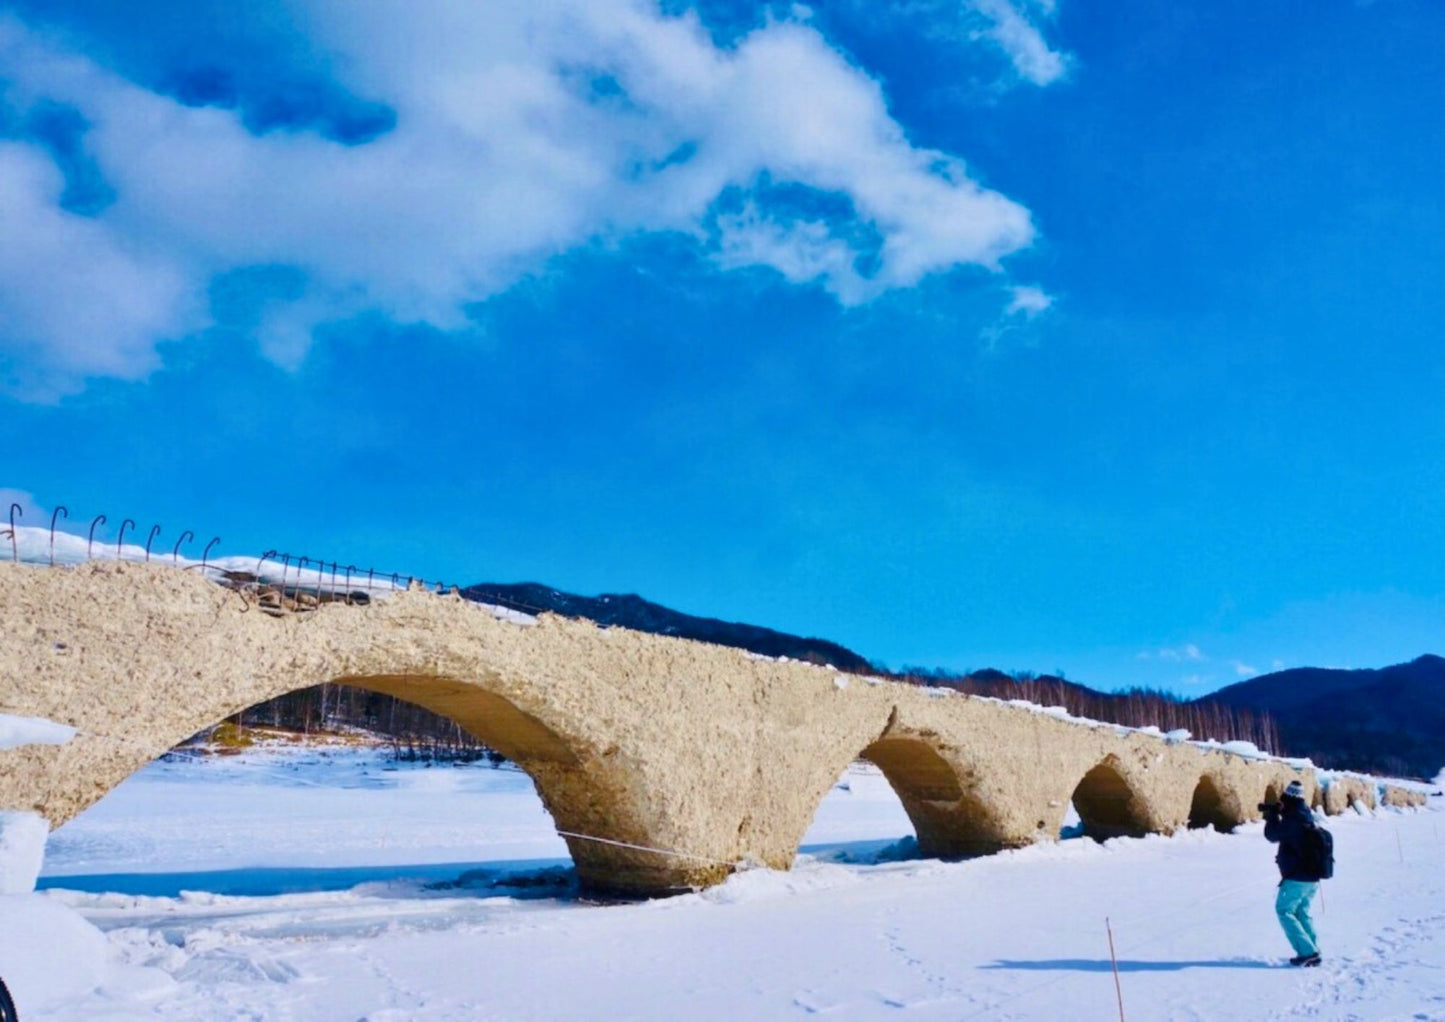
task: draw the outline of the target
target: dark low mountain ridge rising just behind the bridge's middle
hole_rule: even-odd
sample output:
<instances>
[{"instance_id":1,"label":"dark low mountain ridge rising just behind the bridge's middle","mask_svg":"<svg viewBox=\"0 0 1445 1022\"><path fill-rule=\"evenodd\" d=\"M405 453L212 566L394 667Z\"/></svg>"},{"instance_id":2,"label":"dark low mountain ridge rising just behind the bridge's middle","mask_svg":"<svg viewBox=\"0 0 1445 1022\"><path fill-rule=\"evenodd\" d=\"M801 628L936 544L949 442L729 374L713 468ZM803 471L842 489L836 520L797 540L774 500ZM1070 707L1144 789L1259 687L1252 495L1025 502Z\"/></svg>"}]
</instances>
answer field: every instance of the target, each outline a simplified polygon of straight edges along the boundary
<instances>
[{"instance_id":1,"label":"dark low mountain ridge rising just behind the bridge's middle","mask_svg":"<svg viewBox=\"0 0 1445 1022\"><path fill-rule=\"evenodd\" d=\"M811 664L831 664L841 671L870 671L868 661L847 646L827 639L805 639L785 632L722 622L715 617L696 617L670 610L636 594L604 593L603 596L577 596L538 583L478 583L461 590L468 600L497 603L504 607L539 611L549 610L566 617L585 617L598 624L616 624L634 632L653 635L675 635L681 639L696 639L718 646L747 649L763 656L788 656Z\"/></svg>"}]
</instances>

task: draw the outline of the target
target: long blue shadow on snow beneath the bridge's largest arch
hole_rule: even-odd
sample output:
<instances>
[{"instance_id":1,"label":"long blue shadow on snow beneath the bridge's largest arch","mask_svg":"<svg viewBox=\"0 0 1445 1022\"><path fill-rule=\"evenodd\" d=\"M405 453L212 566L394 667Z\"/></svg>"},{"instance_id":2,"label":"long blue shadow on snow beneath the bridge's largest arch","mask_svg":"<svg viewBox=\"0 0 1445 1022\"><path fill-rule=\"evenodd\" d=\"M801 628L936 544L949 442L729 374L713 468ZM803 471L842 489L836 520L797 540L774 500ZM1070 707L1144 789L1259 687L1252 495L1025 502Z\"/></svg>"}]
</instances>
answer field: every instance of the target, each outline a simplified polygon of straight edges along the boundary
<instances>
[{"instance_id":1,"label":"long blue shadow on snow beneath the bridge's largest arch","mask_svg":"<svg viewBox=\"0 0 1445 1022\"><path fill-rule=\"evenodd\" d=\"M40 890L179 898L204 890L234 898L308 895L376 885L376 898L578 898L577 872L569 859L513 859L484 863L423 863L413 866L264 866L189 873L91 873L42 876Z\"/></svg>"}]
</instances>

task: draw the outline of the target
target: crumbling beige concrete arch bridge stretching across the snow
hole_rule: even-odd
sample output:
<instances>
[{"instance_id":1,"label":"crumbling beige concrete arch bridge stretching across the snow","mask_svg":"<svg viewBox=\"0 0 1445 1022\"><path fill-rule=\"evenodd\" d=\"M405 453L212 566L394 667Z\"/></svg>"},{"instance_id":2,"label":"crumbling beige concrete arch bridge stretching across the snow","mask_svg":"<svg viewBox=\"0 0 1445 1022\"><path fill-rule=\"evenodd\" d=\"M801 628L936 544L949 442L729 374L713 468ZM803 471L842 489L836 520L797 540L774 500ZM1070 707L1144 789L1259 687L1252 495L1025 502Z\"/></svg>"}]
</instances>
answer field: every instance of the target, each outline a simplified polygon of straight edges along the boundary
<instances>
[{"instance_id":1,"label":"crumbling beige concrete arch bridge stretching across the snow","mask_svg":"<svg viewBox=\"0 0 1445 1022\"><path fill-rule=\"evenodd\" d=\"M273 616L159 564L0 564L0 713L79 729L0 752L0 810L52 824L204 727L319 682L406 698L514 760L582 883L626 893L788 867L860 756L936 856L1053 840L1071 799L1111 837L1227 830L1293 778L1319 798L1312 770L1279 762L590 622L523 626L455 596ZM1350 801L1374 789L1324 794L1331 812Z\"/></svg>"}]
</instances>

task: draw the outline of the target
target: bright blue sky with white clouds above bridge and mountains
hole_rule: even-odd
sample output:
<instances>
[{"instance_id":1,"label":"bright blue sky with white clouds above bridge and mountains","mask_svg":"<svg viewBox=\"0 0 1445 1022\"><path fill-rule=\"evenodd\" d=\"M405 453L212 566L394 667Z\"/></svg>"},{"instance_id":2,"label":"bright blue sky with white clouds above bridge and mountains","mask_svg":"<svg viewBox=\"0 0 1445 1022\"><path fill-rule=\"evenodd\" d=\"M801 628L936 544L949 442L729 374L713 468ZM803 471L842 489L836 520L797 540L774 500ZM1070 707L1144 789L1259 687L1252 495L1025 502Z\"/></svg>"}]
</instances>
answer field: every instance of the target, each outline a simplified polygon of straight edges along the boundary
<instances>
[{"instance_id":1,"label":"bright blue sky with white clouds above bridge and mountains","mask_svg":"<svg viewBox=\"0 0 1445 1022\"><path fill-rule=\"evenodd\" d=\"M1433 0L0 3L0 487L892 666L1441 652L1442 43Z\"/></svg>"}]
</instances>

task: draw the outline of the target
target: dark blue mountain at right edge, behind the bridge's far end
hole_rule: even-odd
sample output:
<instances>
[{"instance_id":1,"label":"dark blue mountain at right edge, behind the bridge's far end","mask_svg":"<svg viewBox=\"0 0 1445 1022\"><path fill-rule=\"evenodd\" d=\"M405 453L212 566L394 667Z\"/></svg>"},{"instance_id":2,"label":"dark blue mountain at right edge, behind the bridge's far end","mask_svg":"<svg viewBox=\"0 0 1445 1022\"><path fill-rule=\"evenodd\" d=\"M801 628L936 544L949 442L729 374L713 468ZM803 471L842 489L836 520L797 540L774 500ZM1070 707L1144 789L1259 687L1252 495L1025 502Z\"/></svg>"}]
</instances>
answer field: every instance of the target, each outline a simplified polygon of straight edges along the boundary
<instances>
[{"instance_id":1,"label":"dark blue mountain at right edge, behind the bridge's far end","mask_svg":"<svg viewBox=\"0 0 1445 1022\"><path fill-rule=\"evenodd\" d=\"M1432 778L1445 766L1445 658L1379 669L1292 668L1205 697L1269 713L1319 766Z\"/></svg>"}]
</instances>

